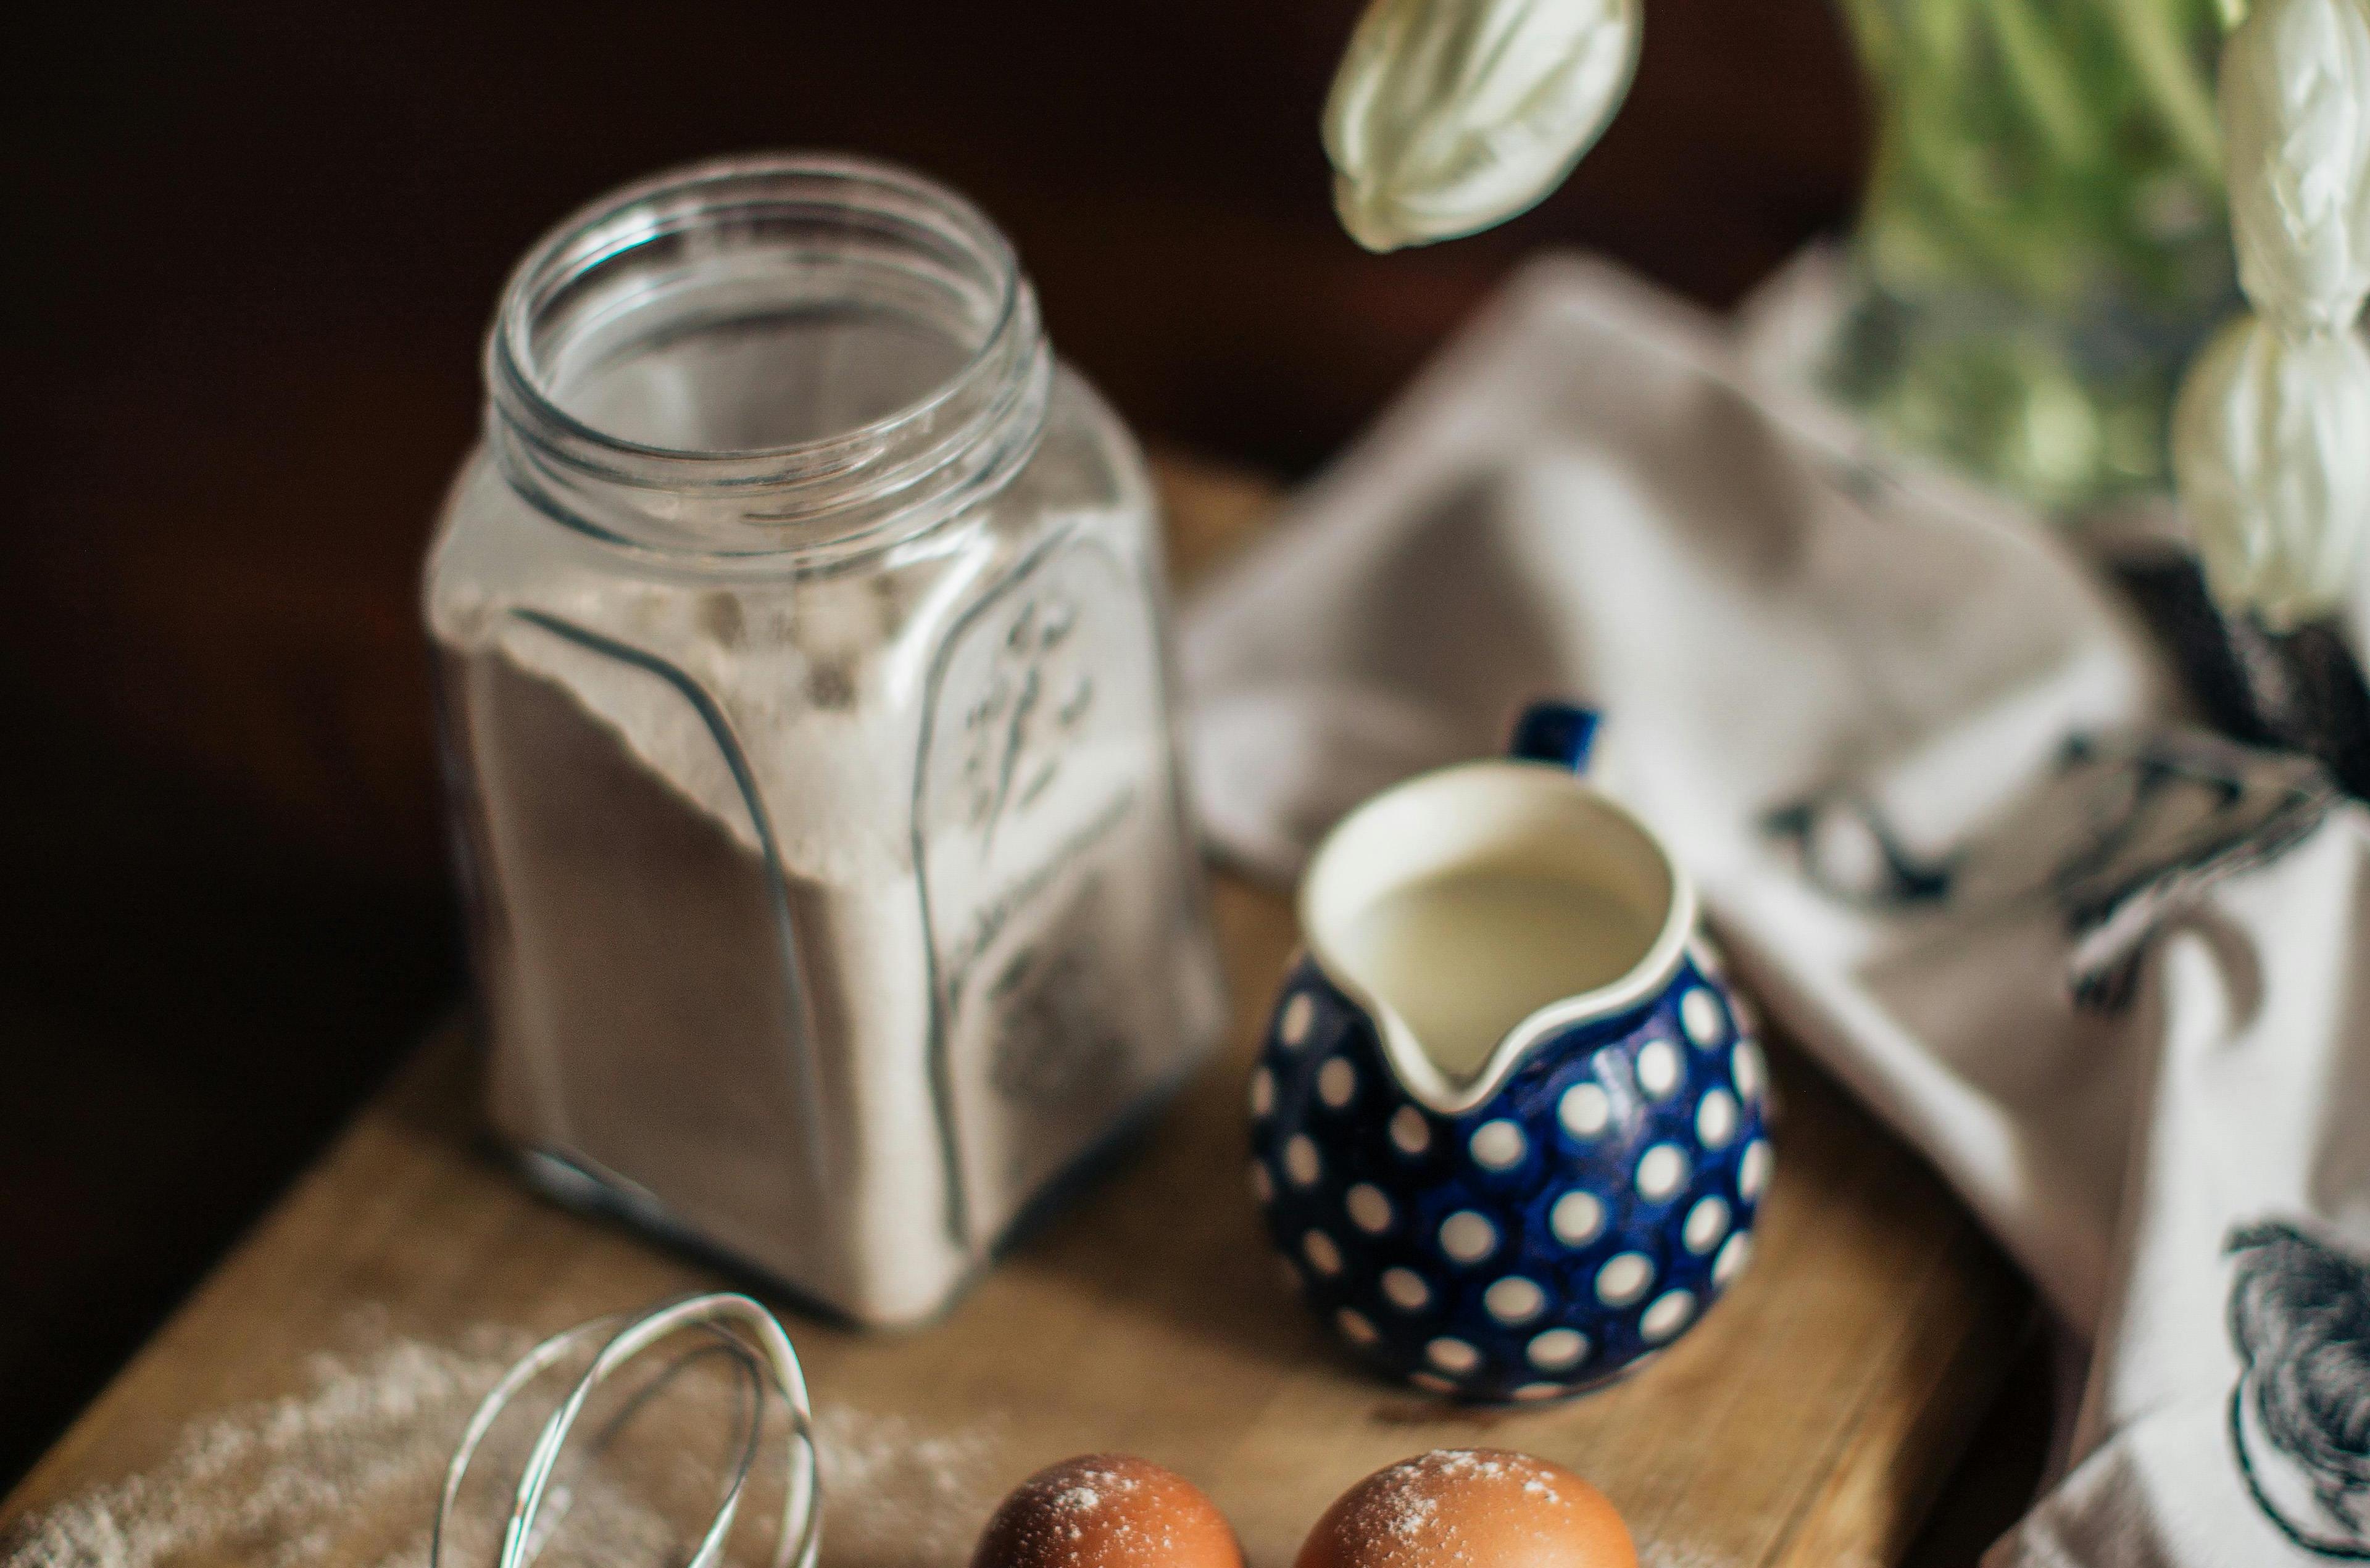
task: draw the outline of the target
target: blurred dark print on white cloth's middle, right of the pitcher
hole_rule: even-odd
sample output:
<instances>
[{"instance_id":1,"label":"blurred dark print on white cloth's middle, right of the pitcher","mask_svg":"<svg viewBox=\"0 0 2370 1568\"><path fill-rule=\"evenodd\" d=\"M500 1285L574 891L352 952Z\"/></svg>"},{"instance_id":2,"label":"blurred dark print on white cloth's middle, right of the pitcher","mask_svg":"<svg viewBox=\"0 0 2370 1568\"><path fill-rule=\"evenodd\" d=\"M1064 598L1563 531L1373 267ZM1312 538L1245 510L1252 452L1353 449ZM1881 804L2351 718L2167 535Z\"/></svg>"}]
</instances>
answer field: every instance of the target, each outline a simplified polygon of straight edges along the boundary
<instances>
[{"instance_id":1,"label":"blurred dark print on white cloth's middle, right of the pitcher","mask_svg":"<svg viewBox=\"0 0 2370 1568\"><path fill-rule=\"evenodd\" d=\"M2086 1007L2131 1000L2166 919L2225 876L2270 865L2320 827L2337 786L2320 763L2202 732L2074 737L1991 827L1932 855L1856 784L1763 817L1832 898L1887 912L2005 914L2055 905Z\"/></svg>"}]
</instances>

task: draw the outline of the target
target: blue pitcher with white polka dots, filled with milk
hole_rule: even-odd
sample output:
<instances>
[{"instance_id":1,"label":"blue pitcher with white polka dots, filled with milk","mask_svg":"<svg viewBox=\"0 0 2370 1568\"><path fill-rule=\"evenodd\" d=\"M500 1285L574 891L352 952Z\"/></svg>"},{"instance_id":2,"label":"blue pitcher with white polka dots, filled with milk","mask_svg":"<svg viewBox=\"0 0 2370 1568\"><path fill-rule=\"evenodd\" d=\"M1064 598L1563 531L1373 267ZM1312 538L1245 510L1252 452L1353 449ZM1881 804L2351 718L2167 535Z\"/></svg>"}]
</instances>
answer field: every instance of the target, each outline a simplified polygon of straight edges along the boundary
<instances>
[{"instance_id":1,"label":"blue pitcher with white polka dots, filled with milk","mask_svg":"<svg viewBox=\"0 0 2370 1568\"><path fill-rule=\"evenodd\" d=\"M1318 846L1251 1073L1251 1187L1308 1300L1436 1393L1545 1400L1687 1331L1770 1177L1751 1016L1595 715L1398 784Z\"/></svg>"}]
</instances>

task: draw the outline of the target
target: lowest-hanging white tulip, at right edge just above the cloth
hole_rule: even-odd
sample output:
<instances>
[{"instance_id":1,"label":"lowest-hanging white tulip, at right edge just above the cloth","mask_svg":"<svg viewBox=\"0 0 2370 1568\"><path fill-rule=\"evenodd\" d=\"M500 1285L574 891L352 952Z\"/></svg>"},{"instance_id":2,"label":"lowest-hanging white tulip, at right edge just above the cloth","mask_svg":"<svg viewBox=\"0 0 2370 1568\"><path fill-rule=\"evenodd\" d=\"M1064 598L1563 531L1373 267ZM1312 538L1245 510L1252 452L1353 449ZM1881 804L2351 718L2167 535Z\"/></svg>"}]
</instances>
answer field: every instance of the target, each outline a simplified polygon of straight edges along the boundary
<instances>
[{"instance_id":1,"label":"lowest-hanging white tulip, at right edge just above the cloth","mask_svg":"<svg viewBox=\"0 0 2370 1568\"><path fill-rule=\"evenodd\" d=\"M2237 317L2180 386L2173 478L2225 609L2273 630L2327 613L2370 531L2370 351Z\"/></svg>"}]
</instances>

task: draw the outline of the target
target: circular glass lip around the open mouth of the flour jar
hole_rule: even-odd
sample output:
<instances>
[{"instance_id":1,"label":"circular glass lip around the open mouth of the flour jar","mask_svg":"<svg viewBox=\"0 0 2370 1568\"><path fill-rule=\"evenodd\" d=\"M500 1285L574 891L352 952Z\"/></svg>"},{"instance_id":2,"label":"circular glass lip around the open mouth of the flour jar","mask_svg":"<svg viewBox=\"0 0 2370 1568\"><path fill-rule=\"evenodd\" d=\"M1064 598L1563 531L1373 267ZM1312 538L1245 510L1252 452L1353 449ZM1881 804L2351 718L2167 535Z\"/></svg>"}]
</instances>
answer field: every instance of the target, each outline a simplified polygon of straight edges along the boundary
<instances>
[{"instance_id":1,"label":"circular glass lip around the open mouth of the flour jar","mask_svg":"<svg viewBox=\"0 0 2370 1568\"><path fill-rule=\"evenodd\" d=\"M882 199L905 201L912 213L941 220L943 234L965 244L972 256L991 270L998 289L995 315L969 358L943 381L903 403L886 415L853 424L830 436L789 441L756 448L678 448L633 441L604 431L569 412L552 393L547 379L538 374L533 329L540 308L550 296L626 251L652 244L668 234L713 220L716 213L735 206L763 206L789 201L794 187L808 182L834 187L841 197L837 206L863 211ZM808 197L815 201L818 197ZM671 213L661 208L673 208ZM687 471L739 467L777 460L806 467L848 450L875 450L901 429L927 422L931 412L950 403L972 384L988 362L1007 346L1026 301L1026 279L1019 256L1003 230L960 192L898 163L839 152L761 152L702 159L678 168L647 175L623 185L559 220L521 261L502 284L500 308L486 343L488 391L507 403L505 412L526 415L533 424L550 426L574 443L614 452L626 460L683 464ZM806 460L806 462L801 462ZM687 476L687 474L685 474Z\"/></svg>"}]
</instances>

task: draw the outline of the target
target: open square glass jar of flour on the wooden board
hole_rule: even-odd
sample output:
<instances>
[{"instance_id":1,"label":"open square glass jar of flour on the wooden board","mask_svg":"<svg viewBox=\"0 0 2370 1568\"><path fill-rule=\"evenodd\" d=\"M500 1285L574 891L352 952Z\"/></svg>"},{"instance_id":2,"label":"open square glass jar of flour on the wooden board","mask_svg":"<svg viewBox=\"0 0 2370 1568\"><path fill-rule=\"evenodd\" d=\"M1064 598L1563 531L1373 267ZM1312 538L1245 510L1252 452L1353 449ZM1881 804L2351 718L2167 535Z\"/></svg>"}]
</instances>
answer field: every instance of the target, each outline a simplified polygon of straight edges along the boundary
<instances>
[{"instance_id":1,"label":"open square glass jar of flour on the wooden board","mask_svg":"<svg viewBox=\"0 0 2370 1568\"><path fill-rule=\"evenodd\" d=\"M427 561L500 1132L858 1322L1223 1028L1154 493L1003 234L877 163L538 244Z\"/></svg>"}]
</instances>

